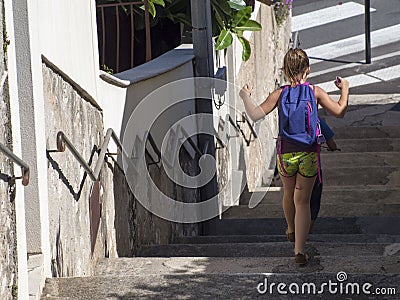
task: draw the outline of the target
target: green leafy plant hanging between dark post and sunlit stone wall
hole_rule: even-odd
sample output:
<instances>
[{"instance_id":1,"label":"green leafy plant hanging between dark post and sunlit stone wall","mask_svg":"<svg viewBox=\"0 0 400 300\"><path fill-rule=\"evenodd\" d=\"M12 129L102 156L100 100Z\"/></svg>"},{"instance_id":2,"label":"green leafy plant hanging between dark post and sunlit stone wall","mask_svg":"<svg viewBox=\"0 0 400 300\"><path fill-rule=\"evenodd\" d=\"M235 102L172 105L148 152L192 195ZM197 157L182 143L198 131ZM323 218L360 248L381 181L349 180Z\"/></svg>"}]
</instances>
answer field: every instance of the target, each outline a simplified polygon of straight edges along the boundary
<instances>
[{"instance_id":1,"label":"green leafy plant hanging between dark post and sunlit stone wall","mask_svg":"<svg viewBox=\"0 0 400 300\"><path fill-rule=\"evenodd\" d=\"M233 36L242 45L242 60L247 61L251 55L249 41L244 38L244 31L259 31L261 24L250 20L252 7L246 6L243 0L211 0L213 10L214 33L217 36L216 50L223 50L232 45Z\"/></svg>"}]
</instances>

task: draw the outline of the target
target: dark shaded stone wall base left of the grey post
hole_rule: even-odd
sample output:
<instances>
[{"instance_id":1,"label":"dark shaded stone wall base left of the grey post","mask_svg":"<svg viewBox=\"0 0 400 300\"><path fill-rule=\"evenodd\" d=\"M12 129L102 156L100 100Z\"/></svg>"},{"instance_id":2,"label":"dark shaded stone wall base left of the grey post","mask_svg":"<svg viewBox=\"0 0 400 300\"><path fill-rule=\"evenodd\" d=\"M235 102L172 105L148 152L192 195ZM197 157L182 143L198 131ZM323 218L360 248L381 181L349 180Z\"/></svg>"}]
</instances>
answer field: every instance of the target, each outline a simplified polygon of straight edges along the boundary
<instances>
[{"instance_id":1,"label":"dark shaded stone wall base left of the grey post","mask_svg":"<svg viewBox=\"0 0 400 300\"><path fill-rule=\"evenodd\" d=\"M148 163L152 162L149 157L146 159ZM197 162L191 160L185 151L180 151L180 162L186 174L197 174ZM171 199L186 203L200 201L199 190L177 185L168 178L162 166L149 165L147 171L160 191ZM148 211L134 197L123 171L115 167L114 175L115 231L119 256L135 256L140 245L168 244L174 237L199 235L200 224L170 222ZM148 197L156 200L159 196L149 194Z\"/></svg>"}]
</instances>

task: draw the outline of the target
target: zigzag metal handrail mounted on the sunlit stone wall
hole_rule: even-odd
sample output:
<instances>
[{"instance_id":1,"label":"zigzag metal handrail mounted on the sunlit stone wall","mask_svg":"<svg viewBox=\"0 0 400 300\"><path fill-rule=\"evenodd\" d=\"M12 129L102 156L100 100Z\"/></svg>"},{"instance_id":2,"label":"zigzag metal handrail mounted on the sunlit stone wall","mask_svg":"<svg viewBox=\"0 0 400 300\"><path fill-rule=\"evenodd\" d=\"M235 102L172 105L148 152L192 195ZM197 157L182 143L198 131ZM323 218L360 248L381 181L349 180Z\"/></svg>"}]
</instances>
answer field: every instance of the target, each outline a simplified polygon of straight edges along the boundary
<instances>
[{"instance_id":1,"label":"zigzag metal handrail mounted on the sunlit stone wall","mask_svg":"<svg viewBox=\"0 0 400 300\"><path fill-rule=\"evenodd\" d=\"M110 139L113 139L115 144L118 147L119 151L122 151L122 144L118 138L118 136L115 134L114 130L112 128L109 128L107 130L106 136L104 137L104 142L100 148L100 152L98 155L98 159L96 162L96 166L94 170L89 166L89 164L85 161L85 159L82 157L82 155L79 154L78 150L75 148L75 146L72 144L72 142L66 137L64 132L59 131L57 133L57 150L49 150L49 152L64 152L66 148L71 151L72 155L78 160L79 164L82 166L82 168L85 169L86 173L88 173L90 179L93 181L98 181L100 177L100 172L103 167L104 159L106 155L117 155L118 153L107 153L108 150L108 144L110 143Z\"/></svg>"}]
</instances>

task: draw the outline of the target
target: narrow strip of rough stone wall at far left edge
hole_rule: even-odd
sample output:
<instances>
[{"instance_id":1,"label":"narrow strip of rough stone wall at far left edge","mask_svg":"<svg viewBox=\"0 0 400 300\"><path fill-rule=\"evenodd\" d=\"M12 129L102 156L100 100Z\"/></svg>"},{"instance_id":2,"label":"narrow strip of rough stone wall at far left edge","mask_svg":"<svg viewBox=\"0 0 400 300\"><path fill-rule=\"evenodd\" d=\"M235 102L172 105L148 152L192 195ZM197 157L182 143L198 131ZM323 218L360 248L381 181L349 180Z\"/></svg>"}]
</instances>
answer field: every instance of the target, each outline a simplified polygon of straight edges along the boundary
<instances>
[{"instance_id":1,"label":"narrow strip of rough stone wall at far left edge","mask_svg":"<svg viewBox=\"0 0 400 300\"><path fill-rule=\"evenodd\" d=\"M4 3L0 1L0 143L12 149L10 98L4 39ZM15 186L13 164L0 152L0 299L12 299L17 282ZM22 191L18 191L22 192Z\"/></svg>"}]
</instances>

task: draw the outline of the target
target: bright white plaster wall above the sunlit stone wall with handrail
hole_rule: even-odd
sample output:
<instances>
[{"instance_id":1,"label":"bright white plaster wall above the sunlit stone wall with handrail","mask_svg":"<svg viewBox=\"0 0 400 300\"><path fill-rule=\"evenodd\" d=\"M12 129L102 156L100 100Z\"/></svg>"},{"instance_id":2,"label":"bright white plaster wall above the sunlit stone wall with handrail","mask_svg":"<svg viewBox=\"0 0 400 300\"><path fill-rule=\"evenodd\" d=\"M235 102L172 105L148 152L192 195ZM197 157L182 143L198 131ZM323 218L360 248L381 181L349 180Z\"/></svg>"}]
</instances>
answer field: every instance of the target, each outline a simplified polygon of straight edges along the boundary
<instances>
[{"instance_id":1,"label":"bright white plaster wall above the sunlit stone wall with handrail","mask_svg":"<svg viewBox=\"0 0 400 300\"><path fill-rule=\"evenodd\" d=\"M37 7L41 53L97 99L95 1L36 0L32 3Z\"/></svg>"}]
</instances>

